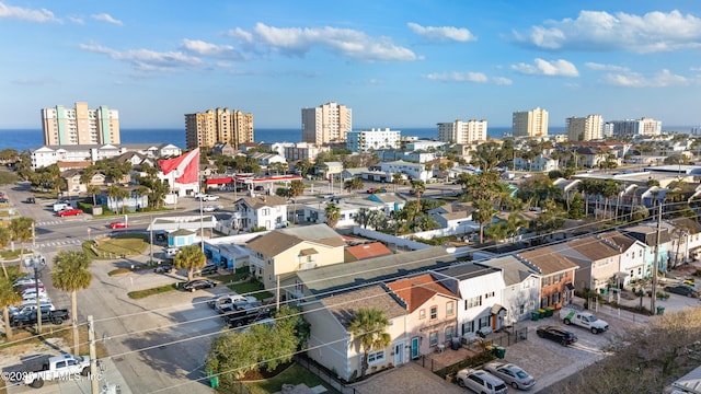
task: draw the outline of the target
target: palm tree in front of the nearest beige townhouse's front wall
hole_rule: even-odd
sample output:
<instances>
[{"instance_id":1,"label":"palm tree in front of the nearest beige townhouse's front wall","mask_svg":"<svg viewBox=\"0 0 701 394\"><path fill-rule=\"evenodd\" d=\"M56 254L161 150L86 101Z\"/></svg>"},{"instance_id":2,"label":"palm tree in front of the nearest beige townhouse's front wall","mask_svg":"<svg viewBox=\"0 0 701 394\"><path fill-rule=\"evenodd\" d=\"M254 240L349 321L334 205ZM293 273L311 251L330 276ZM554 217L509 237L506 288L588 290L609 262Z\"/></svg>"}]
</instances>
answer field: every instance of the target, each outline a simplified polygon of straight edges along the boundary
<instances>
[{"instance_id":1,"label":"palm tree in front of the nearest beige townhouse's front wall","mask_svg":"<svg viewBox=\"0 0 701 394\"><path fill-rule=\"evenodd\" d=\"M363 349L360 378L365 378L365 372L368 369L370 350L384 349L392 341L392 337L387 333L389 325L387 315L378 309L359 309L348 323L348 332Z\"/></svg>"}]
</instances>

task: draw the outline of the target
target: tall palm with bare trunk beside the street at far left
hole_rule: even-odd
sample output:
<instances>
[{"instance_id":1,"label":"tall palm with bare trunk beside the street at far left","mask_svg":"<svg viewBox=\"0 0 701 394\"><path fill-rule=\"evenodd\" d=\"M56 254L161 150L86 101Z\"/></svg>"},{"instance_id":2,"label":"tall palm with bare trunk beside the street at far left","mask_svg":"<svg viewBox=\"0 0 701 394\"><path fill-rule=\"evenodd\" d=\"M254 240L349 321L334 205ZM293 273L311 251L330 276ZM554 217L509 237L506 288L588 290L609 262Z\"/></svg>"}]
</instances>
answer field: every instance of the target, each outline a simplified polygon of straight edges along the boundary
<instances>
[{"instance_id":1,"label":"tall palm with bare trunk beside the street at far left","mask_svg":"<svg viewBox=\"0 0 701 394\"><path fill-rule=\"evenodd\" d=\"M73 321L73 351L79 355L80 339L78 337L78 290L90 287L92 274L88 270L90 257L83 251L60 251L54 257L51 281L54 287L70 292L70 314Z\"/></svg>"}]
</instances>

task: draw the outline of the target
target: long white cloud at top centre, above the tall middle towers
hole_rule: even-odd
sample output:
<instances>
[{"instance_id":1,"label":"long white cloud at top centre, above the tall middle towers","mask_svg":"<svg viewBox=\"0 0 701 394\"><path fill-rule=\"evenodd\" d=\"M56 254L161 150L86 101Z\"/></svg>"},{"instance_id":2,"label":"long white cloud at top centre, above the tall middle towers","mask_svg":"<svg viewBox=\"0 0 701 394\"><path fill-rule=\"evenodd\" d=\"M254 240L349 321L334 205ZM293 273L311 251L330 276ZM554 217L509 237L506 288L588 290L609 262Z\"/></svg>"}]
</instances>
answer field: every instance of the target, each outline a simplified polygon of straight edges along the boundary
<instances>
[{"instance_id":1,"label":"long white cloud at top centre, above the tall middle towers","mask_svg":"<svg viewBox=\"0 0 701 394\"><path fill-rule=\"evenodd\" d=\"M252 32L235 28L228 36L261 45L288 56L304 56L314 48L363 61L414 61L422 57L398 46L389 37L370 37L364 32L336 27L273 27L257 23Z\"/></svg>"}]
</instances>

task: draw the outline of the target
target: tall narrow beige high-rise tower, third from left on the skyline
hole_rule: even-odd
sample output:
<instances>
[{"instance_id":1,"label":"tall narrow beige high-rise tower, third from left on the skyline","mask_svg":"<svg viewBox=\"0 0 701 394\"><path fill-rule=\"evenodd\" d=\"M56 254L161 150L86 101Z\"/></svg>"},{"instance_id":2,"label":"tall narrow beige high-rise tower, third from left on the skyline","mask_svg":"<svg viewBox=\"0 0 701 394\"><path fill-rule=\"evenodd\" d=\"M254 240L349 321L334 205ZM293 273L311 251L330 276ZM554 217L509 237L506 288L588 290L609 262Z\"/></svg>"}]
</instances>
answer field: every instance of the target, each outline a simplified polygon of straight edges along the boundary
<instances>
[{"instance_id":1,"label":"tall narrow beige high-rise tower, third from left on the skyline","mask_svg":"<svg viewBox=\"0 0 701 394\"><path fill-rule=\"evenodd\" d=\"M345 142L353 129L353 111L329 102L317 108L302 108L302 142L317 144Z\"/></svg>"}]
</instances>

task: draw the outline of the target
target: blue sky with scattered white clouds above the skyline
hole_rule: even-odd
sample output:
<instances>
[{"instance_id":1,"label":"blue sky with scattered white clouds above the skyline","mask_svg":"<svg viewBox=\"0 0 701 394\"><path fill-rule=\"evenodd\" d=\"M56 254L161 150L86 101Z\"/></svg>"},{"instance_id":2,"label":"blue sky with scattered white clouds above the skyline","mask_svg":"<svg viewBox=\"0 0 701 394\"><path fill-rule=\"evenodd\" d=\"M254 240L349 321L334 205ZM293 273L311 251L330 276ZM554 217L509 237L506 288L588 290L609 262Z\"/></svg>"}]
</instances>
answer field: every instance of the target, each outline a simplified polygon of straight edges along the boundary
<instances>
[{"instance_id":1,"label":"blue sky with scattered white clouds above the skyline","mask_svg":"<svg viewBox=\"0 0 701 394\"><path fill-rule=\"evenodd\" d=\"M354 129L510 126L515 111L701 125L701 2L0 0L0 128L58 104L123 128L229 107L299 128L336 102ZM686 131L686 130L683 130Z\"/></svg>"}]
</instances>

